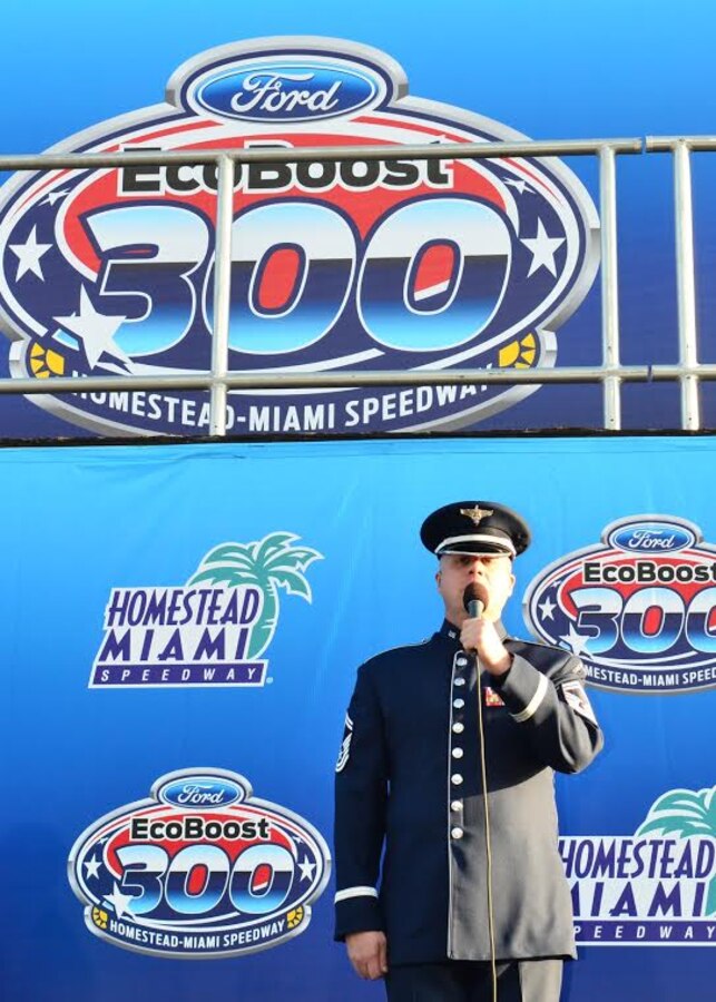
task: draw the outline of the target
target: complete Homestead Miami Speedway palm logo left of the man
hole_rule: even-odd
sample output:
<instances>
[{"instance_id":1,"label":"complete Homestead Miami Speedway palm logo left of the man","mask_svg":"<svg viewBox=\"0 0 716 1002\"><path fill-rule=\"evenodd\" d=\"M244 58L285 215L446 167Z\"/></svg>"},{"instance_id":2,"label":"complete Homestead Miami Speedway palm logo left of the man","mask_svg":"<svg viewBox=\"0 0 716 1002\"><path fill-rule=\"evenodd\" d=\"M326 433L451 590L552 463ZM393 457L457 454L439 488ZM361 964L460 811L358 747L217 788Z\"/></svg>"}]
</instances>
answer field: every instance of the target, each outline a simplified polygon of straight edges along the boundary
<instances>
[{"instance_id":1,"label":"complete Homestead Miami Speedway palm logo left of the man","mask_svg":"<svg viewBox=\"0 0 716 1002\"><path fill-rule=\"evenodd\" d=\"M90 688L263 686L279 592L311 601L322 556L291 532L226 542L176 588L112 588Z\"/></svg>"}]
</instances>

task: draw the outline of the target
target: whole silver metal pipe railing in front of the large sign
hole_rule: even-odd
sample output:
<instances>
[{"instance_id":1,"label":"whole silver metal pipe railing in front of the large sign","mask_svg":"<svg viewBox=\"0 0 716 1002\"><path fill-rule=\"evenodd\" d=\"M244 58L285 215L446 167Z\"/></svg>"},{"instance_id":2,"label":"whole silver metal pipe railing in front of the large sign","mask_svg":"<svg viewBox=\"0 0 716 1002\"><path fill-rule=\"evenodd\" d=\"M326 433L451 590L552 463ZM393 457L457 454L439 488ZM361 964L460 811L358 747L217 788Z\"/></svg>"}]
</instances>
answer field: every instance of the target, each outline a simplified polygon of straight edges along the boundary
<instances>
[{"instance_id":1,"label":"whole silver metal pipe railing in front of the large sign","mask_svg":"<svg viewBox=\"0 0 716 1002\"><path fill-rule=\"evenodd\" d=\"M460 385L502 383L541 385L546 383L600 383L602 385L604 428L621 428L621 384L677 381L680 384L681 428L700 428L699 382L716 380L716 364L699 364L696 326L694 272L694 216L690 153L715 150L716 137L649 137L587 140L524 140L430 146L303 147L288 149L190 150L186 153L124 151L118 154L71 154L40 156L0 156L0 170L55 170L112 168L133 165L198 166L216 165L218 174L216 208L216 278L214 283L214 324L210 370L186 375L82 376L82 392L107 390L208 390L210 392L209 431L226 434L226 404L229 390L295 390L369 386ZM674 157L674 198L676 216L676 276L678 306L677 364L622 365L619 334L619 279L617 240L616 157L670 151ZM234 170L237 164L295 164L304 160L382 160L391 154L401 159L498 159L502 157L596 156L599 168L599 214L601 223L601 364L598 366L534 367L526 370L470 369L421 370L420 372L292 372L246 373L228 367L231 310L232 223ZM78 377L55 376L0 380L0 394L58 394L77 392Z\"/></svg>"}]
</instances>

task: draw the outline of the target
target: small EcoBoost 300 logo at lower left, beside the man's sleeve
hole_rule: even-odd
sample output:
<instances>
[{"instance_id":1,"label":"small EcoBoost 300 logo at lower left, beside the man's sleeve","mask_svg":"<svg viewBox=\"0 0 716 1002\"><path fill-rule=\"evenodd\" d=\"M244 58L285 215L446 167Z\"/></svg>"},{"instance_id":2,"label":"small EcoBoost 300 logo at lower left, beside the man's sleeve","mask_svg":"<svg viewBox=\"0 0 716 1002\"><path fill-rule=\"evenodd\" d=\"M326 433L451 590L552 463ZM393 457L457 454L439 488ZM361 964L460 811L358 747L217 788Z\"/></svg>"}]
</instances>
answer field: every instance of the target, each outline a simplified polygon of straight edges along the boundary
<instances>
[{"instance_id":1,"label":"small EcoBoost 300 logo at lower left, beside the man's sleeve","mask_svg":"<svg viewBox=\"0 0 716 1002\"><path fill-rule=\"evenodd\" d=\"M90 932L165 957L267 950L304 932L325 887L320 833L224 769L161 776L82 832L69 880Z\"/></svg>"}]
</instances>

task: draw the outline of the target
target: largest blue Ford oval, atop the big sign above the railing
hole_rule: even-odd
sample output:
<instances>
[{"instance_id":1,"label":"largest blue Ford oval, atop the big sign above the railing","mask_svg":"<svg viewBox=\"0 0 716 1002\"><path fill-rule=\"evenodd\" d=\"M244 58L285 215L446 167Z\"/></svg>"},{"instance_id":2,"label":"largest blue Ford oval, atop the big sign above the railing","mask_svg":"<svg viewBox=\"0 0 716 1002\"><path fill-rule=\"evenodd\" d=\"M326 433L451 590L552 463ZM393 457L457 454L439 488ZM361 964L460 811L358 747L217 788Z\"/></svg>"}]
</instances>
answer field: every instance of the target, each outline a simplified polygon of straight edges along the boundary
<instances>
[{"instance_id":1,"label":"largest blue Ford oval, atop the big sign above the railing","mask_svg":"<svg viewBox=\"0 0 716 1002\"><path fill-rule=\"evenodd\" d=\"M199 108L242 121L302 121L364 108L380 97L376 78L323 62L254 63L199 82Z\"/></svg>"}]
</instances>

